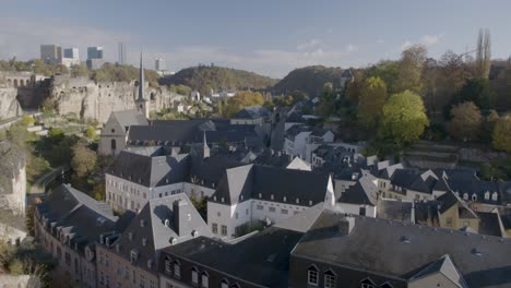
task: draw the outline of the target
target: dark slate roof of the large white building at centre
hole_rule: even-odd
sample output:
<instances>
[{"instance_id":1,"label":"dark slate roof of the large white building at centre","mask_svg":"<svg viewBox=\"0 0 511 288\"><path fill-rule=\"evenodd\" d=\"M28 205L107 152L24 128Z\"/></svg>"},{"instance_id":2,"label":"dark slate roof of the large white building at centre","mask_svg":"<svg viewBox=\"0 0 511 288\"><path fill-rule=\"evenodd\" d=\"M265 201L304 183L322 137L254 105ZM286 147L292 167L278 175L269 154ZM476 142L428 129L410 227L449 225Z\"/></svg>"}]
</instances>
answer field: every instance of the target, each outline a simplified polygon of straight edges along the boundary
<instances>
[{"instance_id":1,"label":"dark slate roof of the large white building at centre","mask_svg":"<svg viewBox=\"0 0 511 288\"><path fill-rule=\"evenodd\" d=\"M226 175L209 201L234 204L249 199L260 199L311 206L310 202L316 205L324 201L328 184L329 176L323 173L246 165L226 170Z\"/></svg>"}]
</instances>

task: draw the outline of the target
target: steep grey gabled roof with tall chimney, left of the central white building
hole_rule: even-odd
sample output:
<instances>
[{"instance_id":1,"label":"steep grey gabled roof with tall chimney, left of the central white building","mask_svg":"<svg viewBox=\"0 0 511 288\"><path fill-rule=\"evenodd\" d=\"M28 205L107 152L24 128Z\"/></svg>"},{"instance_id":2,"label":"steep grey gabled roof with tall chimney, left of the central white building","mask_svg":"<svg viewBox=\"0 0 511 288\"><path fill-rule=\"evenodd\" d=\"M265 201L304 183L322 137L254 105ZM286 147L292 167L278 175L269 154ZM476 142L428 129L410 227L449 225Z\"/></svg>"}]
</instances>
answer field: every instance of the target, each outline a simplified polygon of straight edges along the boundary
<instances>
[{"instance_id":1,"label":"steep grey gabled roof with tall chimney, left of the central white building","mask_svg":"<svg viewBox=\"0 0 511 288\"><path fill-rule=\"evenodd\" d=\"M174 205L176 202L180 203L179 218L175 217L175 213L178 213ZM179 219L179 223L176 223L176 219ZM166 220L168 220L168 226L166 226ZM156 272L156 252L171 245L173 239L177 243L193 239L193 231L197 231L199 236L212 237L210 228L185 193L153 199L130 221L111 245L111 251L128 261L130 261L131 251L138 251L138 260L132 264ZM117 245L119 245L119 251L117 251ZM151 268L147 267L150 260L154 263Z\"/></svg>"}]
</instances>

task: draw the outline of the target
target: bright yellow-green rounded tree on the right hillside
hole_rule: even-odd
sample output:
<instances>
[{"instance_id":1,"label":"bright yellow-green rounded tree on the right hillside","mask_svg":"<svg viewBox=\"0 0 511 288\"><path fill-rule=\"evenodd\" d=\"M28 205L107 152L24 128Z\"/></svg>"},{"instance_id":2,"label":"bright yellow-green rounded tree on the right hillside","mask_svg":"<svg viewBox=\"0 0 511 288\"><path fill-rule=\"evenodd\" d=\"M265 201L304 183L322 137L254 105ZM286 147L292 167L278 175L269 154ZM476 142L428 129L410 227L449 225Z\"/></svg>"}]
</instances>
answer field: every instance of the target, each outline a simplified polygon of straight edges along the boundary
<instances>
[{"instance_id":1,"label":"bright yellow-green rounded tree on the right hillside","mask_svg":"<svg viewBox=\"0 0 511 288\"><path fill-rule=\"evenodd\" d=\"M423 99L413 92L394 94L383 106L383 133L396 144L418 140L428 125Z\"/></svg>"}]
</instances>

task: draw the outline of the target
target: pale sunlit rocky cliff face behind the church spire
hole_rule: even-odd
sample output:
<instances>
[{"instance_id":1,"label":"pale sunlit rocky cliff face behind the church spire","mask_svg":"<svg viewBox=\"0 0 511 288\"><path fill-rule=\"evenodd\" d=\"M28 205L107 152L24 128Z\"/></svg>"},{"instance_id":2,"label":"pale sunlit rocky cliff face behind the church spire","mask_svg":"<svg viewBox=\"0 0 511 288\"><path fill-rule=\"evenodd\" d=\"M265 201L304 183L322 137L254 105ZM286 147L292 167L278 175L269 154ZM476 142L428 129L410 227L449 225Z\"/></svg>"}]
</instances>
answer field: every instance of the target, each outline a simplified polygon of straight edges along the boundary
<instances>
[{"instance_id":1,"label":"pale sunlit rocky cliff face behind the church spire","mask_svg":"<svg viewBox=\"0 0 511 288\"><path fill-rule=\"evenodd\" d=\"M134 82L95 83L86 77L55 76L49 98L59 115L75 113L81 119L106 122L112 111L135 108L138 87ZM165 87L145 86L145 97L151 100L151 111L169 108L183 96Z\"/></svg>"}]
</instances>

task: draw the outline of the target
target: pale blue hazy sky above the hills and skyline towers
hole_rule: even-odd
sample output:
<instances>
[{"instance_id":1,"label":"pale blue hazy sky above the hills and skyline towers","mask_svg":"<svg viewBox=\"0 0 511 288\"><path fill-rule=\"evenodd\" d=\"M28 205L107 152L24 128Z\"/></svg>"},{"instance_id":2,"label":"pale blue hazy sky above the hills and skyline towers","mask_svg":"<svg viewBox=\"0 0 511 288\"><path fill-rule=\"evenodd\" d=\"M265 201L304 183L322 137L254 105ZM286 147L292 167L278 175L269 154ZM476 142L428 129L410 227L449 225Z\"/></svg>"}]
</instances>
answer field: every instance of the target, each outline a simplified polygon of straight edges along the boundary
<instances>
[{"instance_id":1,"label":"pale blue hazy sky above the hills and skyline towers","mask_svg":"<svg viewBox=\"0 0 511 288\"><path fill-rule=\"evenodd\" d=\"M0 59L39 57L39 45L118 43L136 64L164 58L167 69L199 63L281 79L296 68L367 67L399 59L413 44L439 58L473 50L479 28L491 34L492 58L511 55L511 1L475 0L15 0L1 1Z\"/></svg>"}]
</instances>

